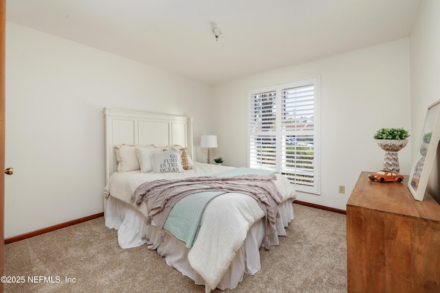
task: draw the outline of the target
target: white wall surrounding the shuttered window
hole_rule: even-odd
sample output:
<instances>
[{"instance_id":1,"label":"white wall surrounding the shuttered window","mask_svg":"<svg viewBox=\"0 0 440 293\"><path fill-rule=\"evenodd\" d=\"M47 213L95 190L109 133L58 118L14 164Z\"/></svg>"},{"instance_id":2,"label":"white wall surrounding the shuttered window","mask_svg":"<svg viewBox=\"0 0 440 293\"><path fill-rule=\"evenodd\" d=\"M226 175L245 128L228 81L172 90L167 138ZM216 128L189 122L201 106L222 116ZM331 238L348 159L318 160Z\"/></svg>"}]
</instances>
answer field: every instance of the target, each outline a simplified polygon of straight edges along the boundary
<instances>
[{"instance_id":1,"label":"white wall surrounding the shuttered window","mask_svg":"<svg viewBox=\"0 0 440 293\"><path fill-rule=\"evenodd\" d=\"M410 130L408 38L217 84L215 152L227 165L247 165L248 89L318 75L322 194L299 194L297 199L344 210L360 172L382 169L384 151L373 140L375 131ZM409 174L410 144L399 152L399 162L401 173ZM345 194L338 193L338 185L346 187Z\"/></svg>"}]
</instances>

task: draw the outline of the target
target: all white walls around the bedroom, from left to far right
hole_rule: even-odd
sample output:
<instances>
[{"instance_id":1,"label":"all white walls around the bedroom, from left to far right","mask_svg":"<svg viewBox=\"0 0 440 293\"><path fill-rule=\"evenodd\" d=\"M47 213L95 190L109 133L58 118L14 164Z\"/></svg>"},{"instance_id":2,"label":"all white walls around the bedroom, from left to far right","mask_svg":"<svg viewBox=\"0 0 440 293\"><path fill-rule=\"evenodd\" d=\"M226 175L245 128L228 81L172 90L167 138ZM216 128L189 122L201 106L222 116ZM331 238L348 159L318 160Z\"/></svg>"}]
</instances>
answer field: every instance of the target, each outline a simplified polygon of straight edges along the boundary
<instances>
[{"instance_id":1,"label":"all white walls around the bedroom, from left to far right","mask_svg":"<svg viewBox=\"0 0 440 293\"><path fill-rule=\"evenodd\" d=\"M401 172L410 172L426 107L440 97L439 10L439 1L422 1L410 40L250 75L214 91L7 23L5 163L15 174L5 177L5 237L102 211L104 106L194 116L195 145L201 134L217 134L219 148L211 156L246 166L248 89L317 75L322 194L299 194L298 200L345 209L360 172L382 167L375 130L410 129L410 143L399 152ZM196 159L204 161L205 151L197 149ZM346 186L345 194L338 194L338 185Z\"/></svg>"}]
</instances>

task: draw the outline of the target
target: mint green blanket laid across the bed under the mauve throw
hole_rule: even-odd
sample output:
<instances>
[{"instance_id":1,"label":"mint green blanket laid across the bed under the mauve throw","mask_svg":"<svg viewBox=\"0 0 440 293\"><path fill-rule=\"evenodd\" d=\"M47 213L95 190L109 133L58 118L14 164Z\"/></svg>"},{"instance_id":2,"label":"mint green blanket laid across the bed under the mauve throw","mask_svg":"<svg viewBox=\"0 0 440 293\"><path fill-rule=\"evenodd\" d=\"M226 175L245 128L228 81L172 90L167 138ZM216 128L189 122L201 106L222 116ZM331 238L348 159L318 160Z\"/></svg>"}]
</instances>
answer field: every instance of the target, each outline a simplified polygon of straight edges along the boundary
<instances>
[{"instance_id":1,"label":"mint green blanket laid across the bed under the mauve throw","mask_svg":"<svg viewBox=\"0 0 440 293\"><path fill-rule=\"evenodd\" d=\"M232 177L247 174L266 176L274 173L275 172L262 169L242 167L212 176ZM186 247L191 248L197 238L197 233L199 233L201 215L203 214L206 204L221 194L225 194L225 191L201 191L181 198L181 200L174 205L173 209L171 209L168 218L166 218L164 229L181 242L184 242Z\"/></svg>"}]
</instances>

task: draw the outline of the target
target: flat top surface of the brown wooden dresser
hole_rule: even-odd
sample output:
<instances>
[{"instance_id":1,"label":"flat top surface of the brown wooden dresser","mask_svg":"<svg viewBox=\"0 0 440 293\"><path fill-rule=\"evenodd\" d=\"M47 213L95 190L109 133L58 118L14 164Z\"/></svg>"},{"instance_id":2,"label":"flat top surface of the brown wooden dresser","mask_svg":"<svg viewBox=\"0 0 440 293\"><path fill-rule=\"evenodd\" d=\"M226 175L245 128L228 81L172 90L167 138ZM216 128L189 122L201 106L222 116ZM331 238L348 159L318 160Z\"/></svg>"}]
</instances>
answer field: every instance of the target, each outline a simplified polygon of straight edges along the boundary
<instances>
[{"instance_id":1,"label":"flat top surface of the brown wooden dresser","mask_svg":"<svg viewBox=\"0 0 440 293\"><path fill-rule=\"evenodd\" d=\"M347 202L349 207L362 207L377 211L440 221L440 204L426 194L423 201L415 200L408 189L408 176L404 181L384 182L369 180L369 174L361 172L358 183Z\"/></svg>"}]
</instances>

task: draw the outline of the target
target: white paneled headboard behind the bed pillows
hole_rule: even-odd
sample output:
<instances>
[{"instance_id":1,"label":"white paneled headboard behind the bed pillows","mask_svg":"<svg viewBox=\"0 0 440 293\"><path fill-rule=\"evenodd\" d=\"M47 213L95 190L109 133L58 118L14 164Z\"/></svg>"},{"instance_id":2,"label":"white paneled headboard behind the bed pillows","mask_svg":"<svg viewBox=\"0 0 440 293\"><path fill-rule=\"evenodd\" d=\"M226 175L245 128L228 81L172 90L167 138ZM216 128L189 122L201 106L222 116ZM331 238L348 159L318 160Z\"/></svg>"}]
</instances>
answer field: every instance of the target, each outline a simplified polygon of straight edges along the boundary
<instances>
[{"instance_id":1,"label":"white paneled headboard behind the bed pillows","mask_svg":"<svg viewBox=\"0 0 440 293\"><path fill-rule=\"evenodd\" d=\"M194 159L192 117L104 108L105 184L118 169L114 147L120 143L157 146L182 145Z\"/></svg>"}]
</instances>

